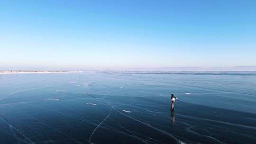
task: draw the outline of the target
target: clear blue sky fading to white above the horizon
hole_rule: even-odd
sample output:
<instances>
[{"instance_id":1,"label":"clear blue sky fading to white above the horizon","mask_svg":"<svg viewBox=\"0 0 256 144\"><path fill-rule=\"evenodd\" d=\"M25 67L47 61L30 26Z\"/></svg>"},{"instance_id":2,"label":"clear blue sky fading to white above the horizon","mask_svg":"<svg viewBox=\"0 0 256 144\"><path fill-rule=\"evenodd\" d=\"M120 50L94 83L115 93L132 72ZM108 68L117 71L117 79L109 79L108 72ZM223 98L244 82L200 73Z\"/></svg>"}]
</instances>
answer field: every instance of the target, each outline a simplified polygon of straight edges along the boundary
<instances>
[{"instance_id":1,"label":"clear blue sky fading to white above the horizon","mask_svg":"<svg viewBox=\"0 0 256 144\"><path fill-rule=\"evenodd\" d=\"M256 65L256 0L1 0L0 69Z\"/></svg>"}]
</instances>

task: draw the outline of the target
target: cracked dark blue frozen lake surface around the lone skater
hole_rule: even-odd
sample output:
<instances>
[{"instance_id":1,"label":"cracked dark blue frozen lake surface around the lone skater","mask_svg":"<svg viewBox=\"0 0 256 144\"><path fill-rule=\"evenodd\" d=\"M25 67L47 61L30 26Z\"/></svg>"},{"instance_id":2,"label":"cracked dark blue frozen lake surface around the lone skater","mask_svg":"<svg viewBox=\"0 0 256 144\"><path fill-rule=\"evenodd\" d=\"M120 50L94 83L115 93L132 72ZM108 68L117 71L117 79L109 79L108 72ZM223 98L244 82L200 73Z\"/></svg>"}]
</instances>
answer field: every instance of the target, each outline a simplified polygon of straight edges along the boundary
<instances>
[{"instance_id":1,"label":"cracked dark blue frozen lake surface around the lone skater","mask_svg":"<svg viewBox=\"0 0 256 144\"><path fill-rule=\"evenodd\" d=\"M0 74L0 144L256 144L256 72Z\"/></svg>"}]
</instances>

